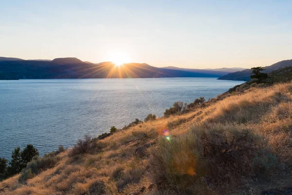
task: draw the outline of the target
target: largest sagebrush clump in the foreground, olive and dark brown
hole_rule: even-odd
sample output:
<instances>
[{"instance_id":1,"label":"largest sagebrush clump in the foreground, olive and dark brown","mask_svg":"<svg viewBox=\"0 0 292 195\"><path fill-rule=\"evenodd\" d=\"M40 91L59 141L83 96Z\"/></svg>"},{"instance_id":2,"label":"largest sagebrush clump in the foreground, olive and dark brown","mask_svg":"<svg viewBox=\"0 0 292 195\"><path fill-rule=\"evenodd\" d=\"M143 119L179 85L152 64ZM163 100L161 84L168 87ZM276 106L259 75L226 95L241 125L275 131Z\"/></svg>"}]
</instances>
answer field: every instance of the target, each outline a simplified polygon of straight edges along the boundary
<instances>
[{"instance_id":1,"label":"largest sagebrush clump in the foreground, olive and dark brown","mask_svg":"<svg viewBox=\"0 0 292 195\"><path fill-rule=\"evenodd\" d=\"M192 194L185 190L205 176L214 186L236 185L242 177L274 170L275 156L265 145L261 137L235 125L197 126L187 134L159 140L152 151L154 179L176 186L181 194Z\"/></svg>"}]
</instances>

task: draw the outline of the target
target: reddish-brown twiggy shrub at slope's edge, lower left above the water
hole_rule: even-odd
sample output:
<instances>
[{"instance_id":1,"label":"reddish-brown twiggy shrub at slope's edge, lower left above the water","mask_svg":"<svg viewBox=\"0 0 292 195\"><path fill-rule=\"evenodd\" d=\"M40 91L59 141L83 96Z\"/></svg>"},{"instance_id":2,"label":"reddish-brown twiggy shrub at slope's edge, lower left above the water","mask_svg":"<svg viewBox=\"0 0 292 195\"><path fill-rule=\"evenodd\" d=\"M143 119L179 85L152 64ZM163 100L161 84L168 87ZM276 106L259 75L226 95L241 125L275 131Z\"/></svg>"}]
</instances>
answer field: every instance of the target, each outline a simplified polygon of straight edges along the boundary
<instances>
[{"instance_id":1,"label":"reddish-brown twiggy shrub at slope's edge, lower left above the water","mask_svg":"<svg viewBox=\"0 0 292 195\"><path fill-rule=\"evenodd\" d=\"M91 149L95 148L96 140L92 140L90 136L85 135L83 139L78 139L76 145L72 148L70 156L89 154Z\"/></svg>"}]
</instances>

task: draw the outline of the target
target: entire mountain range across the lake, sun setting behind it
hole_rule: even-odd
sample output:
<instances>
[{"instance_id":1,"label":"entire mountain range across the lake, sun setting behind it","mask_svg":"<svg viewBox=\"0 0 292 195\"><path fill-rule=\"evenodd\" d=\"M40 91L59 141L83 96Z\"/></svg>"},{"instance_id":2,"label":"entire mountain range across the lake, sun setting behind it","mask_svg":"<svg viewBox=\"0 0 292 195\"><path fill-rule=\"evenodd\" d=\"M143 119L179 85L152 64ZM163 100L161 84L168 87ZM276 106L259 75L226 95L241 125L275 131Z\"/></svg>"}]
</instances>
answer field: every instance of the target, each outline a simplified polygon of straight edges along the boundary
<instances>
[{"instance_id":1,"label":"entire mountain range across the lake, sun setting behind it","mask_svg":"<svg viewBox=\"0 0 292 195\"><path fill-rule=\"evenodd\" d=\"M235 68L238 70L238 68ZM25 78L218 78L233 69L157 68L146 63L91 63L77 58L24 60L0 57L0 79ZM239 68L240 69L240 68Z\"/></svg>"}]
</instances>

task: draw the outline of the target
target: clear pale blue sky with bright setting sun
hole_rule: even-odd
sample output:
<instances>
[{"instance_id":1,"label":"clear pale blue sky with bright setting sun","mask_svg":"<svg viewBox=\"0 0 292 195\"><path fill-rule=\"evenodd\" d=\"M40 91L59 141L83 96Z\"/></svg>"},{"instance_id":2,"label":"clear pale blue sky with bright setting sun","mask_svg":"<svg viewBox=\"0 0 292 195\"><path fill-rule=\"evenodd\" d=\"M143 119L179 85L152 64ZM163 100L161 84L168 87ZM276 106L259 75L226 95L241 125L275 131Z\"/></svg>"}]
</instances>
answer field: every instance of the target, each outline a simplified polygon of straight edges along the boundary
<instances>
[{"instance_id":1,"label":"clear pale blue sky with bright setting sun","mask_svg":"<svg viewBox=\"0 0 292 195\"><path fill-rule=\"evenodd\" d=\"M292 0L0 0L0 56L266 66L292 59L291 10Z\"/></svg>"}]
</instances>

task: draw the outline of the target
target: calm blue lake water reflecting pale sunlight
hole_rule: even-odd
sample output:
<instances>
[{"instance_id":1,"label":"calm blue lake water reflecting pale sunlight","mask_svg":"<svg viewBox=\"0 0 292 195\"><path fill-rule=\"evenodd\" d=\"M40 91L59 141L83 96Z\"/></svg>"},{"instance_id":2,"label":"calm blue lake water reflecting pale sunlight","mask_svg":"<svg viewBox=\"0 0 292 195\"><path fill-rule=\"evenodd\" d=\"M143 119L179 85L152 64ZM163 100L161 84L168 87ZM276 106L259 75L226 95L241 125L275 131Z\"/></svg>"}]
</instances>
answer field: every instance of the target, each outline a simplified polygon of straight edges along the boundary
<instances>
[{"instance_id":1,"label":"calm blue lake water reflecting pale sunlight","mask_svg":"<svg viewBox=\"0 0 292 195\"><path fill-rule=\"evenodd\" d=\"M33 144L40 155L71 147L147 114L163 116L175 101L214 98L243 81L216 78L0 80L0 157Z\"/></svg>"}]
</instances>

